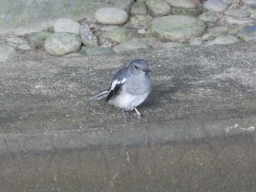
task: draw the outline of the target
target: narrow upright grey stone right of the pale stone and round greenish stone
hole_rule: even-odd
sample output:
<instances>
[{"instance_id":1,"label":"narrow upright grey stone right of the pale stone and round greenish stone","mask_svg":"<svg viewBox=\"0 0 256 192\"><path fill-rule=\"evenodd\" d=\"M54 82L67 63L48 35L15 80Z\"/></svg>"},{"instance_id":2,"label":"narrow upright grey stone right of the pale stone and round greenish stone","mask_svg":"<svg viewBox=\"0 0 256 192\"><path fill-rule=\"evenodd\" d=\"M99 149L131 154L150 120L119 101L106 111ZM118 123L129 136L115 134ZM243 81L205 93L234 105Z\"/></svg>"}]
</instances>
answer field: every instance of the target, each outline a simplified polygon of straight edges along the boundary
<instances>
[{"instance_id":1,"label":"narrow upright grey stone right of the pale stone and round greenish stone","mask_svg":"<svg viewBox=\"0 0 256 192\"><path fill-rule=\"evenodd\" d=\"M83 45L97 45L97 37L92 34L91 28L86 23L83 23L83 25L80 26L79 35Z\"/></svg>"}]
</instances>

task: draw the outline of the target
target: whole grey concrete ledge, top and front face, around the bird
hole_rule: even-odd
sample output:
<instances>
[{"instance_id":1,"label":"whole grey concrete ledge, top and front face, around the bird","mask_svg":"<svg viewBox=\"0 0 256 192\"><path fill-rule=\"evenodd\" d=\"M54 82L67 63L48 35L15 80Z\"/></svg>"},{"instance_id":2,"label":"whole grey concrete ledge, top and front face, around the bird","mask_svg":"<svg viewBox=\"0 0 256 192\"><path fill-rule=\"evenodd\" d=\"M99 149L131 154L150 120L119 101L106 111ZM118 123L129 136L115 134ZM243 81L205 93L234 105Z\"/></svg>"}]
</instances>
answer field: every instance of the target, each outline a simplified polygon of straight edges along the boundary
<instances>
[{"instance_id":1,"label":"whole grey concrete ledge, top and front face, around the bird","mask_svg":"<svg viewBox=\"0 0 256 192\"><path fill-rule=\"evenodd\" d=\"M256 45L0 64L1 191L255 191ZM146 59L127 126L89 96Z\"/></svg>"}]
</instances>

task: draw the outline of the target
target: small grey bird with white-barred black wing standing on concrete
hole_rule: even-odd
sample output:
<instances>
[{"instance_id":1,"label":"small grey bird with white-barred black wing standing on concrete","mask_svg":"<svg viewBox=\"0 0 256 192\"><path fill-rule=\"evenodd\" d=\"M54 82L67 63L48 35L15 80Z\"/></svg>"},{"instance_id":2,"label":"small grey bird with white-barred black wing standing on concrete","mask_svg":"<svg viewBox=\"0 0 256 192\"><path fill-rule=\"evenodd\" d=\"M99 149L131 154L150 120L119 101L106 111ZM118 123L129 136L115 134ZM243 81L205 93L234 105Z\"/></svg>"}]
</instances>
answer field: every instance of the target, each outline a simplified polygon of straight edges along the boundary
<instances>
[{"instance_id":1,"label":"small grey bird with white-barred black wing standing on concrete","mask_svg":"<svg viewBox=\"0 0 256 192\"><path fill-rule=\"evenodd\" d=\"M121 108L126 122L124 111L135 110L138 118L141 118L136 107L146 100L151 91L149 72L151 70L148 69L148 63L143 59L136 59L116 73L108 91L92 96L90 100L107 98L106 103Z\"/></svg>"}]
</instances>

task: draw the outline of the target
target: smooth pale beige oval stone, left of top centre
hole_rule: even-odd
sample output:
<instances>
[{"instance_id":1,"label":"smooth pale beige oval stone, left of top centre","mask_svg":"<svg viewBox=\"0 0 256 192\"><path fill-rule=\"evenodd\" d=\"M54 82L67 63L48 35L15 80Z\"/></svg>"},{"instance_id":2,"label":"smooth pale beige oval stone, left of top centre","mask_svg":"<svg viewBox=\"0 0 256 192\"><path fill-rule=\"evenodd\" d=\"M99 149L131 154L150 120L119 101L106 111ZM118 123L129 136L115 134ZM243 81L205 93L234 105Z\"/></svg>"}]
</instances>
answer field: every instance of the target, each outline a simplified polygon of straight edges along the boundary
<instances>
[{"instance_id":1,"label":"smooth pale beige oval stone, left of top centre","mask_svg":"<svg viewBox=\"0 0 256 192\"><path fill-rule=\"evenodd\" d=\"M123 25L129 16L123 9L116 7L102 7L97 9L94 18L103 25Z\"/></svg>"}]
</instances>

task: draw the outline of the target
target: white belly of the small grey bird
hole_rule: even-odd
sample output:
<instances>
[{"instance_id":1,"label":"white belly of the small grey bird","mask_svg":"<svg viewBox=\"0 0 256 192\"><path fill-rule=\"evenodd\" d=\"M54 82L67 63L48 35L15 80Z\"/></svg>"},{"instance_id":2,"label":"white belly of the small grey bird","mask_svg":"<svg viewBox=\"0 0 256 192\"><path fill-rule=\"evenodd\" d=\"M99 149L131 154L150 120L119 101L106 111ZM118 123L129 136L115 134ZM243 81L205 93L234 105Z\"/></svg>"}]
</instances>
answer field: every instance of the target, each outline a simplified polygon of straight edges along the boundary
<instances>
[{"instance_id":1,"label":"white belly of the small grey bird","mask_svg":"<svg viewBox=\"0 0 256 192\"><path fill-rule=\"evenodd\" d=\"M110 104L115 105L115 107L119 107L126 111L134 110L135 107L142 104L143 101L146 100L149 93L145 93L143 95L132 96L129 93L121 93L115 98L111 99Z\"/></svg>"}]
</instances>

